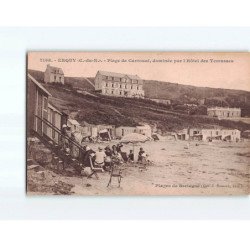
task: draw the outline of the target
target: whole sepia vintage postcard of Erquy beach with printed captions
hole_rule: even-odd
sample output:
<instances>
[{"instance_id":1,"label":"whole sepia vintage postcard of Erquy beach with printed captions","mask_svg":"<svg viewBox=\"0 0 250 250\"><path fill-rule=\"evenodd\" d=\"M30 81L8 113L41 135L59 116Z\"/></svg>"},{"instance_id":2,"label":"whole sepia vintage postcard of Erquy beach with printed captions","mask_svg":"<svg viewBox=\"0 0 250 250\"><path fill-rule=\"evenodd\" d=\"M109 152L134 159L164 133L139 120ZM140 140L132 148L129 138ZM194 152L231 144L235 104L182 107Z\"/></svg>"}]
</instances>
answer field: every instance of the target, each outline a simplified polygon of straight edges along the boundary
<instances>
[{"instance_id":1,"label":"whole sepia vintage postcard of Erquy beach with printed captions","mask_svg":"<svg viewBox=\"0 0 250 250\"><path fill-rule=\"evenodd\" d=\"M249 53L28 53L28 195L248 195L249 169Z\"/></svg>"}]
</instances>

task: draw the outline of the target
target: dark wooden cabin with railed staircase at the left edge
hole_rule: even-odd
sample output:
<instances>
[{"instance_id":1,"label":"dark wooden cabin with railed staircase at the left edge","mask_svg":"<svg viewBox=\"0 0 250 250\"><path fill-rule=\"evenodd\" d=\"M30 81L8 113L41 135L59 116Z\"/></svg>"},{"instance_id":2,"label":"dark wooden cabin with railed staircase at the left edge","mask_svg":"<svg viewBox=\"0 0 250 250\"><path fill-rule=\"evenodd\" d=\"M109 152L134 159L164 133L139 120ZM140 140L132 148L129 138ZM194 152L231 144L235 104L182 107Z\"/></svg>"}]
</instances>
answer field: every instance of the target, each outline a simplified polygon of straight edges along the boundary
<instances>
[{"instance_id":1,"label":"dark wooden cabin with railed staircase at the left edge","mask_svg":"<svg viewBox=\"0 0 250 250\"><path fill-rule=\"evenodd\" d=\"M69 164L80 166L83 148L72 138L62 134L61 126L53 124L53 114L51 116L52 120L49 119L48 102L51 94L31 75L28 75L27 83L27 136L37 137L49 148L52 152L54 163L58 165L62 163L63 168ZM61 115L60 121L62 124L63 122L65 123L66 117L63 113ZM72 147L78 150L77 156L72 157L72 155L65 152L65 148L62 145L63 139L67 140Z\"/></svg>"}]
</instances>

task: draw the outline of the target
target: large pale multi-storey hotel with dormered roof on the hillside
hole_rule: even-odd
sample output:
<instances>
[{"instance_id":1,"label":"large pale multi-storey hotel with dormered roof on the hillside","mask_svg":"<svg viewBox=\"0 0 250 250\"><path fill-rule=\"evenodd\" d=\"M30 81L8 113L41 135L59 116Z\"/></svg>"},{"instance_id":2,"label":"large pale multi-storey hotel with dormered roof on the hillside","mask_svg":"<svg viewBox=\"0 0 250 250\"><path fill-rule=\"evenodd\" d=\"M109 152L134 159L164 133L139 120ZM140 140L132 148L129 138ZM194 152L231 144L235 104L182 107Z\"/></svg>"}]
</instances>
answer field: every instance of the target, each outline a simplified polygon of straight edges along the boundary
<instances>
[{"instance_id":1,"label":"large pale multi-storey hotel with dormered roof on the hillside","mask_svg":"<svg viewBox=\"0 0 250 250\"><path fill-rule=\"evenodd\" d=\"M95 90L103 95L144 98L143 80L137 75L98 71Z\"/></svg>"}]
</instances>

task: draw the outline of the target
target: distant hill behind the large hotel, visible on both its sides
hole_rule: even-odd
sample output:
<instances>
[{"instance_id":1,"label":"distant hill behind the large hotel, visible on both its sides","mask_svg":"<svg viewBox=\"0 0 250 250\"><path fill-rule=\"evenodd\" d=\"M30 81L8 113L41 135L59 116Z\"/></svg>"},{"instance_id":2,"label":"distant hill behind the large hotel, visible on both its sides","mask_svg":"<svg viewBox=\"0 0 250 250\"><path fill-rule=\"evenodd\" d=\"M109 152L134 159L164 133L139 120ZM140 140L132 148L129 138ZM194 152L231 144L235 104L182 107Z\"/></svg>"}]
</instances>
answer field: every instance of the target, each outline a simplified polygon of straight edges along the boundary
<instances>
[{"instance_id":1,"label":"distant hill behind the large hotel, visible on both its sides","mask_svg":"<svg viewBox=\"0 0 250 250\"><path fill-rule=\"evenodd\" d=\"M37 80L43 82L43 72L29 70ZM88 77L91 82L94 78ZM65 77L65 84L86 91L93 91L94 88L83 77ZM203 104L205 106L239 107L242 109L242 116L250 116L250 92L242 90L195 87L178 83L160 82L145 80L144 84L146 98L170 99L173 108L186 103ZM185 110L185 107L177 107L178 110ZM187 110L186 110L187 111ZM194 112L205 114L204 112Z\"/></svg>"}]
</instances>

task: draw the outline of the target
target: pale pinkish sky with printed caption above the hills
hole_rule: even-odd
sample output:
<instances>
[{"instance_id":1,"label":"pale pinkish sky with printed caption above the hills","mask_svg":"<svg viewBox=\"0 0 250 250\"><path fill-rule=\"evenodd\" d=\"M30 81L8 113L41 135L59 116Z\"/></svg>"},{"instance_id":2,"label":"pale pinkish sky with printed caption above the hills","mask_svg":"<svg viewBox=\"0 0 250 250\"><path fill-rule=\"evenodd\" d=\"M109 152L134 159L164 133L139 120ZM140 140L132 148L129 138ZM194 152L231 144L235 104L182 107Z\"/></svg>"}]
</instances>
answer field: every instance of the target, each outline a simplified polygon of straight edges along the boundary
<instances>
[{"instance_id":1,"label":"pale pinkish sky with printed caption above the hills","mask_svg":"<svg viewBox=\"0 0 250 250\"><path fill-rule=\"evenodd\" d=\"M28 68L45 71L47 64L65 76L94 77L98 70L138 75L199 87L250 91L248 52L30 52Z\"/></svg>"}]
</instances>

